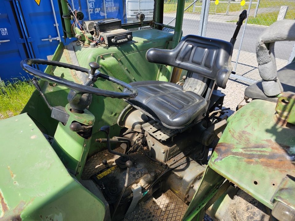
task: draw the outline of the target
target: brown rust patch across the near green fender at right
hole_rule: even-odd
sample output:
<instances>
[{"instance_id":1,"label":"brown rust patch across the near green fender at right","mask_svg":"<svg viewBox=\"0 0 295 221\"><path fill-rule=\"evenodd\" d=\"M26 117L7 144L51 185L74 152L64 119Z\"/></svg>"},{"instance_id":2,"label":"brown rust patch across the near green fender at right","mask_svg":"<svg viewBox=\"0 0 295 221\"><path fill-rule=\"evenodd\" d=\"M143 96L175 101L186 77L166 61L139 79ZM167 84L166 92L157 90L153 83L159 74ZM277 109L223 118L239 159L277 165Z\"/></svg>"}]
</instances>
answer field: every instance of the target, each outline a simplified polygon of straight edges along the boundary
<instances>
[{"instance_id":1,"label":"brown rust patch across the near green fender at right","mask_svg":"<svg viewBox=\"0 0 295 221\"><path fill-rule=\"evenodd\" d=\"M290 147L279 145L272 140L264 140L266 144L251 144L246 142L246 145L237 147L233 144L219 143L215 152L217 158L214 162L222 161L225 157L242 157L243 161L248 164L261 164L267 168L279 169L293 173L295 165L292 161L295 159L295 154L291 153Z\"/></svg>"}]
</instances>

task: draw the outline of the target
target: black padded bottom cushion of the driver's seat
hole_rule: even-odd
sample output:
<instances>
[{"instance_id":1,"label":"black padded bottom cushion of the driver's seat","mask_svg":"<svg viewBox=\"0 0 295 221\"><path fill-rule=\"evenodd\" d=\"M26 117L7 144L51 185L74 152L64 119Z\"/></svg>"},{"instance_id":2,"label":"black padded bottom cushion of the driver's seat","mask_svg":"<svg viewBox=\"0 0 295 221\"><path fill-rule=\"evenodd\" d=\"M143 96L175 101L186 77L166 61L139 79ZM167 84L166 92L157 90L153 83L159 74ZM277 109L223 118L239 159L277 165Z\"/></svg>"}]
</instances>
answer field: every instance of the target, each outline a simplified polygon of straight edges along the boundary
<instances>
[{"instance_id":1,"label":"black padded bottom cushion of the driver's seat","mask_svg":"<svg viewBox=\"0 0 295 221\"><path fill-rule=\"evenodd\" d=\"M137 89L138 95L127 102L165 127L183 128L206 113L207 102L202 96L184 91L183 87L175 83L141 81L130 85Z\"/></svg>"}]
</instances>

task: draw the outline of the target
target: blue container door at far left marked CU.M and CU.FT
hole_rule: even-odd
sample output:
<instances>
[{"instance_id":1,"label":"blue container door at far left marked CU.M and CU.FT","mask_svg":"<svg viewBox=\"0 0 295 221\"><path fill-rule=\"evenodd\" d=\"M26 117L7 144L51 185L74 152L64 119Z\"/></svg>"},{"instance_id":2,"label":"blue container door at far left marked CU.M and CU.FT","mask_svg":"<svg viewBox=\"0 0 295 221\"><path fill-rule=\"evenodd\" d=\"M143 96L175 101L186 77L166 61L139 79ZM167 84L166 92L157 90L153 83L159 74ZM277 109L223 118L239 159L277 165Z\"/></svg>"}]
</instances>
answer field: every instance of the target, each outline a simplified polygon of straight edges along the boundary
<instances>
[{"instance_id":1,"label":"blue container door at far left marked CU.M and CU.FT","mask_svg":"<svg viewBox=\"0 0 295 221\"><path fill-rule=\"evenodd\" d=\"M23 30L15 21L12 1L0 0L0 79L27 77L20 61L29 57Z\"/></svg>"}]
</instances>

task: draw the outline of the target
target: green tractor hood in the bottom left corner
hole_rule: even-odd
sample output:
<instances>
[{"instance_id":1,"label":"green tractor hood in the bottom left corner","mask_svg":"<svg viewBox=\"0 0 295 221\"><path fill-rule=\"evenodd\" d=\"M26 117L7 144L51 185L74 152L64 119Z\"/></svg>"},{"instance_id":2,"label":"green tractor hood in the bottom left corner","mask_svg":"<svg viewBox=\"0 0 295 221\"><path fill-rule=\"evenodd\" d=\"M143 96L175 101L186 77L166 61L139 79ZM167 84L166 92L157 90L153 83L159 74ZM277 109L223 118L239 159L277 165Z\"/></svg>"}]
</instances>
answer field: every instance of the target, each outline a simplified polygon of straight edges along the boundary
<instances>
[{"instance_id":1,"label":"green tractor hood in the bottom left corner","mask_svg":"<svg viewBox=\"0 0 295 221\"><path fill-rule=\"evenodd\" d=\"M0 134L0 220L103 220L104 204L73 179L26 113L2 120Z\"/></svg>"}]
</instances>

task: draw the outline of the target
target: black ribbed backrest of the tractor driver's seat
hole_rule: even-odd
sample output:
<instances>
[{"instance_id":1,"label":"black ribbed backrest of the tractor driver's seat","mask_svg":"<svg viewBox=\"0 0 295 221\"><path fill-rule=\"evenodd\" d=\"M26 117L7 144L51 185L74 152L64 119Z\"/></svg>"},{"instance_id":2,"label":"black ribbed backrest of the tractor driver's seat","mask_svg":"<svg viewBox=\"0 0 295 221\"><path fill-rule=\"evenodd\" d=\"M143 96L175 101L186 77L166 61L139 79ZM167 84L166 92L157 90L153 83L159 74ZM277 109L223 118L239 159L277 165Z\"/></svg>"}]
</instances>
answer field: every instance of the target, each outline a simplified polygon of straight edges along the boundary
<instances>
[{"instance_id":1,"label":"black ribbed backrest of the tractor driver's seat","mask_svg":"<svg viewBox=\"0 0 295 221\"><path fill-rule=\"evenodd\" d=\"M232 71L230 42L214 38L187 35L176 48L151 48L146 53L149 62L170 65L214 80L225 88Z\"/></svg>"}]
</instances>

